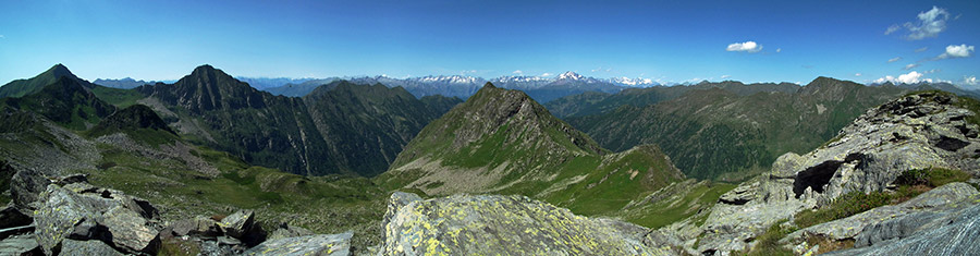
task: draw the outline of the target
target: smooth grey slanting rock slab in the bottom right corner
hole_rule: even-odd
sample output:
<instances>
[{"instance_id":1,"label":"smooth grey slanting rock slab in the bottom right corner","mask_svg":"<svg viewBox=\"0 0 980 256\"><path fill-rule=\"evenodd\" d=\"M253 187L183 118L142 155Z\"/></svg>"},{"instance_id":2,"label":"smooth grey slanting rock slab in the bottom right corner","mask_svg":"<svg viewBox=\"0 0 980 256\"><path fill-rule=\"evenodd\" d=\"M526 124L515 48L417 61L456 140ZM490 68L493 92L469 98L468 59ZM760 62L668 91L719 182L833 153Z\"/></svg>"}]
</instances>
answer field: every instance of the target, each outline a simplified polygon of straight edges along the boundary
<instances>
[{"instance_id":1,"label":"smooth grey slanting rock slab in the bottom right corner","mask_svg":"<svg viewBox=\"0 0 980 256\"><path fill-rule=\"evenodd\" d=\"M907 237L826 255L975 255L980 252L980 243L977 243L980 241L980 204L930 219L931 224L923 224Z\"/></svg>"}]
</instances>

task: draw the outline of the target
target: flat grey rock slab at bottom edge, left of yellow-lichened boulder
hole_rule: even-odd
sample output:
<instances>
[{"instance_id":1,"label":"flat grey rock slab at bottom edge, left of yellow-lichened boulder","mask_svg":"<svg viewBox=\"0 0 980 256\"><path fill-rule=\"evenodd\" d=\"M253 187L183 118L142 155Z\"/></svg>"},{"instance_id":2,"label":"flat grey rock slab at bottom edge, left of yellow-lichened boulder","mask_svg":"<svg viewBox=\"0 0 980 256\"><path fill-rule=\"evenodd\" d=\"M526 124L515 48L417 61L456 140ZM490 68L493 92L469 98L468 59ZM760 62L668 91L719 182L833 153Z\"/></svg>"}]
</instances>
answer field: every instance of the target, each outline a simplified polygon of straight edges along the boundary
<instances>
[{"instance_id":1,"label":"flat grey rock slab at bottom edge, left of yellow-lichened boulder","mask_svg":"<svg viewBox=\"0 0 980 256\"><path fill-rule=\"evenodd\" d=\"M318 234L266 241L244 255L351 255L354 233Z\"/></svg>"}]
</instances>

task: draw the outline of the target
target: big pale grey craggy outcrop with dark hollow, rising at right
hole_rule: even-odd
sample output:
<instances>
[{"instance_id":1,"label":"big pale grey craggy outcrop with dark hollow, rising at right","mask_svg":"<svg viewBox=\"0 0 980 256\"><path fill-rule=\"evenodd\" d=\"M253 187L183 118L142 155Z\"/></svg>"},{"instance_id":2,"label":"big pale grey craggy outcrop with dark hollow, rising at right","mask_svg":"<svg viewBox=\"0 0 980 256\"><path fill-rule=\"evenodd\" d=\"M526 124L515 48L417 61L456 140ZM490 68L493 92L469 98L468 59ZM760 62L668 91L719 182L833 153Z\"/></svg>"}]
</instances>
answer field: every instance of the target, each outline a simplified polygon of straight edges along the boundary
<instances>
[{"instance_id":1,"label":"big pale grey craggy outcrop with dark hollow, rising at right","mask_svg":"<svg viewBox=\"0 0 980 256\"><path fill-rule=\"evenodd\" d=\"M928 92L872 108L826 145L803 156L786 154L769 173L722 195L699 231L681 240L700 236L693 252L743 251L756 245L768 227L793 220L800 211L828 207L853 193L892 193L907 171L942 169L977 176L977 106L971 99ZM683 225L661 231L678 234ZM809 249L812 244L801 246Z\"/></svg>"}]
</instances>

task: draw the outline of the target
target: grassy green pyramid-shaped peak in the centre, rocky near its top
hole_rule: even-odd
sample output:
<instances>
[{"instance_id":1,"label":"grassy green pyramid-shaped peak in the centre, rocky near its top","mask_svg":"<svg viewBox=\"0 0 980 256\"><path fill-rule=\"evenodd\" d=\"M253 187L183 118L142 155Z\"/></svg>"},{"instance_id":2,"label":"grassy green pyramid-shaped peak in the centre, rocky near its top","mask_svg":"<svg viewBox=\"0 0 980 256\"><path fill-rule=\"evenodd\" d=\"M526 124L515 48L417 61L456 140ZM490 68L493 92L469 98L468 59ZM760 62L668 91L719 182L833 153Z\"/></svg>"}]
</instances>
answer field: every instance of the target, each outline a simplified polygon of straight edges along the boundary
<instances>
[{"instance_id":1,"label":"grassy green pyramid-shaped peak in the centre, rocky near its top","mask_svg":"<svg viewBox=\"0 0 980 256\"><path fill-rule=\"evenodd\" d=\"M610 154L523 92L489 83L426 125L379 176L391 188L523 194L586 214L682 179L656 146Z\"/></svg>"}]
</instances>

